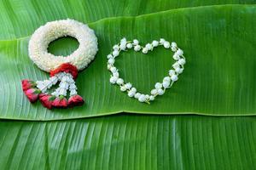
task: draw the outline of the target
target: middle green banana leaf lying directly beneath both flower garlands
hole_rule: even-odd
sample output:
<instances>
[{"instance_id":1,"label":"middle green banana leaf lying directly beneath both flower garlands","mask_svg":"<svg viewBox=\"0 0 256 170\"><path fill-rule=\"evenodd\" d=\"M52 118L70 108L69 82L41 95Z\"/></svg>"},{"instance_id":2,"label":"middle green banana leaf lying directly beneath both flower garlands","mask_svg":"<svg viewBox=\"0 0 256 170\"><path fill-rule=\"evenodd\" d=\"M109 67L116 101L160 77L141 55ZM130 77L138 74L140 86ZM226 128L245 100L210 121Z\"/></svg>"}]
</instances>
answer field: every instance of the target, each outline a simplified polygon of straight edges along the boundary
<instances>
[{"instance_id":1,"label":"middle green banana leaf lying directly beneath both flower garlands","mask_svg":"<svg viewBox=\"0 0 256 170\"><path fill-rule=\"evenodd\" d=\"M5 119L60 120L106 116L119 112L148 114L198 114L245 116L256 113L255 87L255 5L220 5L179 8L137 17L100 20L89 26L96 31L99 52L90 67L76 80L86 105L68 110L45 109L31 105L20 88L20 80L43 80L28 58L29 37L1 41L0 116ZM151 42L165 37L183 48L187 64L179 81L151 105L141 104L109 83L107 54L121 37ZM54 42L53 54L71 42L67 53L78 46L68 39ZM143 93L166 76L172 54L157 48L148 55L132 51L117 59L120 74Z\"/></svg>"}]
</instances>

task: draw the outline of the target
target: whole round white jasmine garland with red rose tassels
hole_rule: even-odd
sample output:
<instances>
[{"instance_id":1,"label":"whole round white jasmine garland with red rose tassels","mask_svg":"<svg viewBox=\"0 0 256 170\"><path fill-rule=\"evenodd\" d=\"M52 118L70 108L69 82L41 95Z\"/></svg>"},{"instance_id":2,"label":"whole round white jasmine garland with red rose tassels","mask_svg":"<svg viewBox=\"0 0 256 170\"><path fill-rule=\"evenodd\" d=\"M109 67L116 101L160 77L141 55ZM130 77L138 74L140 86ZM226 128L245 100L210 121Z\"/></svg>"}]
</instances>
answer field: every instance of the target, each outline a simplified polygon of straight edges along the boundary
<instances>
[{"instance_id":1,"label":"whole round white jasmine garland with red rose tassels","mask_svg":"<svg viewBox=\"0 0 256 170\"><path fill-rule=\"evenodd\" d=\"M79 42L79 48L67 56L49 54L49 43L59 37L74 37ZM77 93L74 79L78 71L82 71L95 58L97 53L97 38L93 30L76 20L55 20L40 26L33 34L28 44L29 57L34 64L49 72L49 80L30 81L23 80L22 88L26 97L41 103L51 109L54 107L67 107L83 105L84 99ZM59 87L49 92L57 82ZM67 91L69 99L67 100Z\"/></svg>"}]
</instances>

